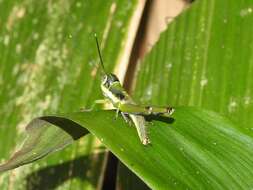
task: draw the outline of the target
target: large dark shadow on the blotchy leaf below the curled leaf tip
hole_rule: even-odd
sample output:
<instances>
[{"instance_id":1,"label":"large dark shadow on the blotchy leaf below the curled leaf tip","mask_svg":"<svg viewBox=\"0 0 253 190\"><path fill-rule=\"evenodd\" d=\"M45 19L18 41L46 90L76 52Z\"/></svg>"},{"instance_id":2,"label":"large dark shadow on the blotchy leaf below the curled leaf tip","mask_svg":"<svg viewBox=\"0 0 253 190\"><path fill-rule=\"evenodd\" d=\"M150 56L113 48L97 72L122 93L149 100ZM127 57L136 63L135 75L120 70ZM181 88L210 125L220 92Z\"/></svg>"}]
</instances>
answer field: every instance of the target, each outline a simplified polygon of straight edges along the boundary
<instances>
[{"instance_id":1,"label":"large dark shadow on the blotchy leaf below the curled leaf tip","mask_svg":"<svg viewBox=\"0 0 253 190\"><path fill-rule=\"evenodd\" d=\"M97 153L39 169L26 177L26 189L56 189L73 178L79 178L82 181L87 180L92 186L96 187L98 184L96 176L100 176L102 168L94 169L94 166L101 166L103 160L104 153Z\"/></svg>"}]
</instances>

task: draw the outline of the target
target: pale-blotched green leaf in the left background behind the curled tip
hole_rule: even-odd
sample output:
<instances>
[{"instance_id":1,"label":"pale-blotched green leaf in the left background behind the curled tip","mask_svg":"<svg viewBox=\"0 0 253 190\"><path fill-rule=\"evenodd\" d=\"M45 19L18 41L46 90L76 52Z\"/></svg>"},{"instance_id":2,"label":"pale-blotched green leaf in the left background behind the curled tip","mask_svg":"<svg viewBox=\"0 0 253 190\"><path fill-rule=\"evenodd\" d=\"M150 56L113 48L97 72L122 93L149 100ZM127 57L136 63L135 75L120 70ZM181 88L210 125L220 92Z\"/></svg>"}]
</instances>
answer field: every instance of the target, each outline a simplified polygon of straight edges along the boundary
<instances>
[{"instance_id":1,"label":"pale-blotched green leaf in the left background behind the curled tip","mask_svg":"<svg viewBox=\"0 0 253 190\"><path fill-rule=\"evenodd\" d=\"M122 56L128 59L124 55L126 46L131 49L128 31L135 34L136 12L142 11L137 7L136 0L0 1L1 162L20 146L33 118L77 111L102 97L94 32L111 71ZM102 152L101 144L89 136L36 165L1 174L0 189L99 188L106 159ZM79 158L83 160L75 162ZM53 167L59 163L65 168ZM80 178L74 174L81 167ZM62 179L64 173L68 177ZM45 176L52 174L58 179L45 183Z\"/></svg>"}]
</instances>

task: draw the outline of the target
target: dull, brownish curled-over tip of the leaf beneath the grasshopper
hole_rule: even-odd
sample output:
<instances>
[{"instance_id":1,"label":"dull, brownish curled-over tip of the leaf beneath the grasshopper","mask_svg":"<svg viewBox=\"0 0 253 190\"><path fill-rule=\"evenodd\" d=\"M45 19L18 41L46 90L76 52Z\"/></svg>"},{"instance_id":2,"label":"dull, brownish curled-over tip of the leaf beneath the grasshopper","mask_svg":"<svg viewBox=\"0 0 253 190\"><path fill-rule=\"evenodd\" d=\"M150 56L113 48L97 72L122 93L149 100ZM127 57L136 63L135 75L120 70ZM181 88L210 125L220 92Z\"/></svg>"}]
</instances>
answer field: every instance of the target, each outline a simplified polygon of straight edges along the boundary
<instances>
[{"instance_id":1,"label":"dull, brownish curled-over tip of the leaf beneath the grasshopper","mask_svg":"<svg viewBox=\"0 0 253 190\"><path fill-rule=\"evenodd\" d=\"M0 172L17 168L34 162L42 157L61 150L88 132L69 120L59 118L47 121L47 118L34 119L26 128L27 138L22 148L16 152L8 162L0 166ZM52 124L63 124L62 128ZM82 128L81 128L82 129Z\"/></svg>"}]
</instances>

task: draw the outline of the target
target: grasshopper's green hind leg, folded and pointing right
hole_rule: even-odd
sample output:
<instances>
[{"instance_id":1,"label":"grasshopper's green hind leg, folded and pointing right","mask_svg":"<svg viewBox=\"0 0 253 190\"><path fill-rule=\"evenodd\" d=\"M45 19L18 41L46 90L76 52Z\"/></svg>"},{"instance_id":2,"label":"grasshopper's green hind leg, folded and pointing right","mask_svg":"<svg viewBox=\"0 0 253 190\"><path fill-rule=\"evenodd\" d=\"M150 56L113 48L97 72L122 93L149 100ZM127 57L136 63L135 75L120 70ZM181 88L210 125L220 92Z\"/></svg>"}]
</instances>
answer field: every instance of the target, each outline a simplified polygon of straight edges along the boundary
<instances>
[{"instance_id":1,"label":"grasshopper's green hind leg, folded and pointing right","mask_svg":"<svg viewBox=\"0 0 253 190\"><path fill-rule=\"evenodd\" d=\"M135 114L135 115L163 115L170 116L174 109L172 107L157 107L157 106L146 106L137 105L131 103L120 103L118 105L120 111Z\"/></svg>"}]
</instances>

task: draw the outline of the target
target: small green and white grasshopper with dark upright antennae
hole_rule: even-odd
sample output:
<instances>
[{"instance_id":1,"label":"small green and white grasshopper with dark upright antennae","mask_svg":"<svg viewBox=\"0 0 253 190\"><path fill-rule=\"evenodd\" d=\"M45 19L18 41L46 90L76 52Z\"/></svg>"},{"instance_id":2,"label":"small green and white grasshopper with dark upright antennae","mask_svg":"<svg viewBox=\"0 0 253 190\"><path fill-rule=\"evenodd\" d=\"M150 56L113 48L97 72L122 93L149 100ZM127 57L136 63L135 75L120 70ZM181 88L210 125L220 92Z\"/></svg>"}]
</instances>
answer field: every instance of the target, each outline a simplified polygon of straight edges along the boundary
<instances>
[{"instance_id":1,"label":"small green and white grasshopper with dark upright antennae","mask_svg":"<svg viewBox=\"0 0 253 190\"><path fill-rule=\"evenodd\" d=\"M96 101L96 103L109 102L117 110L116 117L119 113L121 113L127 123L130 123L132 120L137 129L141 142L144 145L147 145L150 143L150 139L148 137L147 125L144 116L170 116L174 112L174 109L172 107L154 107L136 104L126 92L126 90L122 87L117 76L112 73L106 72L98 44L97 35L95 34L94 36L96 39L97 50L101 65L101 89L105 97L105 100L98 100Z\"/></svg>"}]
</instances>

